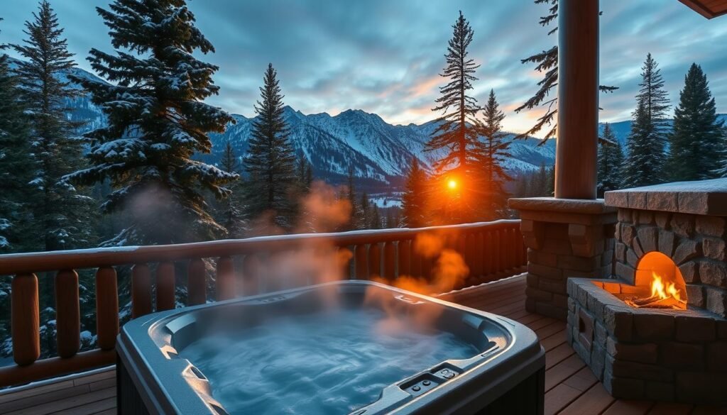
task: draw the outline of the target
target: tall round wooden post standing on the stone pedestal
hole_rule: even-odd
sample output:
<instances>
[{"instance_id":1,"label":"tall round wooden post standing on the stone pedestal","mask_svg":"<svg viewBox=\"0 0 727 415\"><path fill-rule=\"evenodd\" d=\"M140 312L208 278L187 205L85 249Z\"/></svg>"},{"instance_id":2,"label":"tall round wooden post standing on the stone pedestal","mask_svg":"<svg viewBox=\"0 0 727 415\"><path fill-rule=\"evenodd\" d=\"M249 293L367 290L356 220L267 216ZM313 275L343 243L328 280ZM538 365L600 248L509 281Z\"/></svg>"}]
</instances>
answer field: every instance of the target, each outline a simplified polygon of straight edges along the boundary
<instances>
[{"instance_id":1,"label":"tall round wooden post standing on the stone pedestal","mask_svg":"<svg viewBox=\"0 0 727 415\"><path fill-rule=\"evenodd\" d=\"M596 196L598 12L598 0L558 1L555 198Z\"/></svg>"}]
</instances>

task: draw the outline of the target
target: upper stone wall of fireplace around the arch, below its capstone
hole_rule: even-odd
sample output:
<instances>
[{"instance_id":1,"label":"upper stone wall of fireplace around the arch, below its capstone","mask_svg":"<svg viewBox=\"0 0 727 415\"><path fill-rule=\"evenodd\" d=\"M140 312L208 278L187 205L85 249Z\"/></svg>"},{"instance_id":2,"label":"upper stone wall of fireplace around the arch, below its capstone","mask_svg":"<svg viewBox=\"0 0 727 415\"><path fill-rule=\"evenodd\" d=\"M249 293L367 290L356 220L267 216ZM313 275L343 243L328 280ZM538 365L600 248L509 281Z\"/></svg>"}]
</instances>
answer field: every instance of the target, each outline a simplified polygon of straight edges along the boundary
<instances>
[{"instance_id":1,"label":"upper stone wall of fireplace around the arch, below its capstone","mask_svg":"<svg viewBox=\"0 0 727 415\"><path fill-rule=\"evenodd\" d=\"M670 257L686 282L688 304L727 316L725 217L619 208L615 275L632 284L644 254Z\"/></svg>"}]
</instances>

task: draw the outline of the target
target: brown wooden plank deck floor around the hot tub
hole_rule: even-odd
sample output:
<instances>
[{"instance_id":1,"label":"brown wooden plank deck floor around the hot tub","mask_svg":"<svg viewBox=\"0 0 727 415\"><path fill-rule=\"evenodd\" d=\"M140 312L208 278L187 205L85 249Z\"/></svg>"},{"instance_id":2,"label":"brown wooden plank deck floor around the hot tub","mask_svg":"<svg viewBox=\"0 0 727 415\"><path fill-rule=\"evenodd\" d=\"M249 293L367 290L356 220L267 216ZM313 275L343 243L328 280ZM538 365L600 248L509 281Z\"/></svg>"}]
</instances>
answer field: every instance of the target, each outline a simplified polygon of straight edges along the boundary
<instances>
[{"instance_id":1,"label":"brown wooden plank deck floor around the hot tub","mask_svg":"<svg viewBox=\"0 0 727 415\"><path fill-rule=\"evenodd\" d=\"M590 369L566 345L565 323L525 310L523 276L446 294L443 298L505 315L526 324L538 334L546 350L545 414L727 414L727 408L611 398ZM0 392L0 414L115 414L115 387L113 368L28 385Z\"/></svg>"}]
</instances>

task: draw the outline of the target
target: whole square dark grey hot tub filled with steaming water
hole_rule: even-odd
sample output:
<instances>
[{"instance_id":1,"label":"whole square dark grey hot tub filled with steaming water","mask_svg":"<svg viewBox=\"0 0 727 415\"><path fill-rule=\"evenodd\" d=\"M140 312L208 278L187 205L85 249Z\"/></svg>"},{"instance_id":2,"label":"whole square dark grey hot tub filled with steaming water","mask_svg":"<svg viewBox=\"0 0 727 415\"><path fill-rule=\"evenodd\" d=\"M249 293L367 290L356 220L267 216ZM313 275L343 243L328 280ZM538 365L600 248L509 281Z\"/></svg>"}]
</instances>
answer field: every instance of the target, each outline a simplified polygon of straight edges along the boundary
<instances>
[{"instance_id":1,"label":"whole square dark grey hot tub filled with steaming water","mask_svg":"<svg viewBox=\"0 0 727 415\"><path fill-rule=\"evenodd\" d=\"M121 414L542 414L545 352L520 323L369 281L137 318Z\"/></svg>"}]
</instances>

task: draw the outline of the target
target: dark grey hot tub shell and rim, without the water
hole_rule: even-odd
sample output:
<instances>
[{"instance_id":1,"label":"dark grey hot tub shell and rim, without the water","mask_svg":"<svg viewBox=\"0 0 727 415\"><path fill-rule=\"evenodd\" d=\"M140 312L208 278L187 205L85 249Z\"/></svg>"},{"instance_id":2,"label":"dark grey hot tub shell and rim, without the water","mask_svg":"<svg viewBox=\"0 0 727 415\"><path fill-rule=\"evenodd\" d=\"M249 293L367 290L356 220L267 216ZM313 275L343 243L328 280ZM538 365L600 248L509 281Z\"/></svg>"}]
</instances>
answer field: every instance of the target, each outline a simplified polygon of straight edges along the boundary
<instances>
[{"instance_id":1,"label":"dark grey hot tub shell and rim, without the water","mask_svg":"<svg viewBox=\"0 0 727 415\"><path fill-rule=\"evenodd\" d=\"M372 294L377 301L367 300ZM471 358L421 368L351 414L543 413L545 351L533 331L499 315L369 281L326 283L154 313L126 323L116 347L119 413L227 414L204 373L180 357L182 350L213 330L244 330L276 318L316 313L332 299L348 309L387 303L389 312L395 308L402 315L435 315L436 329L479 350Z\"/></svg>"}]
</instances>

